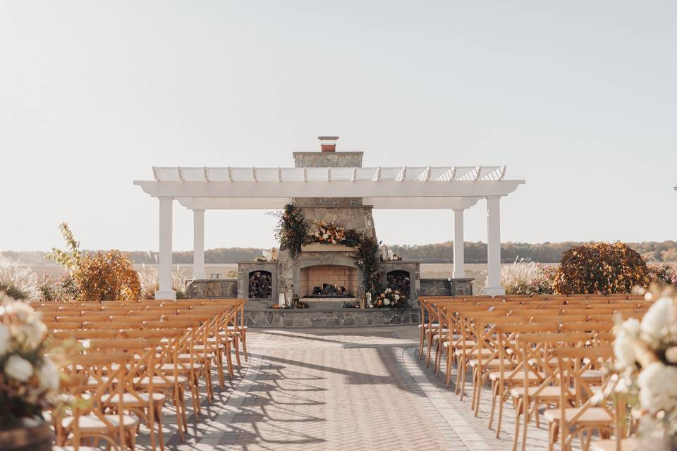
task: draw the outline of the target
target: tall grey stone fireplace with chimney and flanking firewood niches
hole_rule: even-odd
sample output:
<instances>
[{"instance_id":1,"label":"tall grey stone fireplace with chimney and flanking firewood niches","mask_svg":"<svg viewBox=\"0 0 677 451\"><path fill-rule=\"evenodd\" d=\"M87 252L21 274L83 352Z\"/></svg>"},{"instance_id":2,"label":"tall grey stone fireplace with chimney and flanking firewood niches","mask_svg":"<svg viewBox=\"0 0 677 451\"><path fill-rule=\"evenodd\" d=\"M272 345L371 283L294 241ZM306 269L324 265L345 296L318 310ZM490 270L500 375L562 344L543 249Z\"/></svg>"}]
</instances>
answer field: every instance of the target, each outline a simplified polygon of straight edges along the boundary
<instances>
[{"instance_id":1,"label":"tall grey stone fireplace with chimney and flanking firewood niches","mask_svg":"<svg viewBox=\"0 0 677 451\"><path fill-rule=\"evenodd\" d=\"M322 152L294 152L297 168L360 168L362 152L336 152L338 137L320 137ZM361 197L296 197L293 204L313 226L335 223L375 237L372 206ZM240 262L238 295L252 306L270 306L279 293L292 290L310 307L331 309L355 302L365 293L364 275L356 266L355 249L343 245L305 245L296 259L280 250L278 261ZM420 293L420 262L384 261L383 286L402 290L415 306ZM267 284L272 283L268 295ZM338 292L336 289L338 288Z\"/></svg>"}]
</instances>

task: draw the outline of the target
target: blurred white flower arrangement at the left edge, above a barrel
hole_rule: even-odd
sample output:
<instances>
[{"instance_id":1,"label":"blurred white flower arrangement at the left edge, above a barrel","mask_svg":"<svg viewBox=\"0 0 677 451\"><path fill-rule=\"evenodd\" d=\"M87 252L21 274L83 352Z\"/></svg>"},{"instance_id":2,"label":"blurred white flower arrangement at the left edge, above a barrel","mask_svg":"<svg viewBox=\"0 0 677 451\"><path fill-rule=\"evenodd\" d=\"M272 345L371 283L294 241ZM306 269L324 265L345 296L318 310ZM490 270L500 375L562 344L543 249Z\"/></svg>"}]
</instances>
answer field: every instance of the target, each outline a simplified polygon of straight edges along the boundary
<instances>
[{"instance_id":1,"label":"blurred white flower arrangement at the left edge, above a barrel","mask_svg":"<svg viewBox=\"0 0 677 451\"><path fill-rule=\"evenodd\" d=\"M47 327L23 302L0 295L0 429L42 420L54 405L59 370L47 357Z\"/></svg>"}]
</instances>

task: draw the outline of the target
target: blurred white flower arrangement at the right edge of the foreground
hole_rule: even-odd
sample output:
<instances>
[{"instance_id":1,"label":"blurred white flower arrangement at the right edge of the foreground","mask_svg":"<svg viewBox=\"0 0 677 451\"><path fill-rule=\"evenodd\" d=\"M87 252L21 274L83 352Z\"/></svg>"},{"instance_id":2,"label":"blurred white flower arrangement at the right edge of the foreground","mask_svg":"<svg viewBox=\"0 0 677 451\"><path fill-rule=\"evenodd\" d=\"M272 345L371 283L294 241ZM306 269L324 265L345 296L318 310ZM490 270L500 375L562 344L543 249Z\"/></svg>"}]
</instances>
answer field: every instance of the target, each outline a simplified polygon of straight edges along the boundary
<instances>
[{"instance_id":1,"label":"blurred white flower arrangement at the right edge of the foreground","mask_svg":"<svg viewBox=\"0 0 677 451\"><path fill-rule=\"evenodd\" d=\"M640 436L677 447L677 297L654 288L658 299L642 321L630 318L614 329L616 392L640 416Z\"/></svg>"}]
</instances>

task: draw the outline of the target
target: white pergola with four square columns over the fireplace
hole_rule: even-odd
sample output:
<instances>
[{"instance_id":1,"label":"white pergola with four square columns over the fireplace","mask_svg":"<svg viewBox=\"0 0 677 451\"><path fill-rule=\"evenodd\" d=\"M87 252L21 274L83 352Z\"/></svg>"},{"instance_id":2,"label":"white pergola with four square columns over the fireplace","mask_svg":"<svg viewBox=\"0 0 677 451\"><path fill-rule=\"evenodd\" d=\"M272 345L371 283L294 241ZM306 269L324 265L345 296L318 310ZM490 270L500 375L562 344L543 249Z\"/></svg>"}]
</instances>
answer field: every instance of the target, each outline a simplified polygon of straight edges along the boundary
<instances>
[{"instance_id":1,"label":"white pergola with four square columns over the fireplace","mask_svg":"<svg viewBox=\"0 0 677 451\"><path fill-rule=\"evenodd\" d=\"M154 167L154 180L136 180L159 199L159 290L171 289L172 204L193 210L193 275L205 277L205 210L281 209L295 197L361 197L374 209L452 209L453 278L464 278L463 212L487 200L487 287L501 287L499 199L525 180L506 180L506 166L378 168L181 168Z\"/></svg>"}]
</instances>

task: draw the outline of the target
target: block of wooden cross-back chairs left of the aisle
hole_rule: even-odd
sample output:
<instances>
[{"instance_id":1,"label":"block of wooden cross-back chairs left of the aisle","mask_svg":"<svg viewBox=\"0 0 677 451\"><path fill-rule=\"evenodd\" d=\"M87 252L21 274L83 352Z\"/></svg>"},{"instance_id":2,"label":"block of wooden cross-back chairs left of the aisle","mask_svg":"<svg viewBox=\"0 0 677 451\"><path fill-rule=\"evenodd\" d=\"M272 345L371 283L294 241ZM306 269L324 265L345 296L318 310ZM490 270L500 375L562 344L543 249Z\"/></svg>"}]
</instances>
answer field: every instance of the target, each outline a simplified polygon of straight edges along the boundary
<instances>
[{"instance_id":1,"label":"block of wooden cross-back chairs left of the aisle","mask_svg":"<svg viewBox=\"0 0 677 451\"><path fill-rule=\"evenodd\" d=\"M224 366L234 377L246 352L243 299L33 304L55 345L68 349L64 395L73 403L54 412L56 444L79 447L104 440L135 447L142 421L150 443L164 451L162 409L171 402L181 440L188 433L185 397L200 418L200 386L212 402L212 369L221 390ZM157 427L157 433L156 433ZM157 435L157 438L156 438Z\"/></svg>"}]
</instances>

